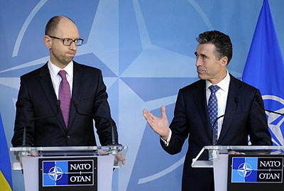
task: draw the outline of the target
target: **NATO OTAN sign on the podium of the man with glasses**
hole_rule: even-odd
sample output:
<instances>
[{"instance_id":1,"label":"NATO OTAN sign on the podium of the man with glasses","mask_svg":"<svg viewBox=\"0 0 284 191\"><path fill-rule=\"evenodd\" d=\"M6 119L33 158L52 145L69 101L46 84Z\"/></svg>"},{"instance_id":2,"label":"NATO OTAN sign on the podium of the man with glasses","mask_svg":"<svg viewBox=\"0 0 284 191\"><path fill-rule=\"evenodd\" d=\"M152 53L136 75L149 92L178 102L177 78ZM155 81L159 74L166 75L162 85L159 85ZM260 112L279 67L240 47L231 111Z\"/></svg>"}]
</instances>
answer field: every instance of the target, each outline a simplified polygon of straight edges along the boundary
<instances>
[{"instance_id":1,"label":"NATO OTAN sign on the podium of the man with glasses","mask_svg":"<svg viewBox=\"0 0 284 191\"><path fill-rule=\"evenodd\" d=\"M97 187L97 158L40 160L40 187ZM68 190L67 189L67 190ZM97 188L96 188L97 190Z\"/></svg>"}]
</instances>

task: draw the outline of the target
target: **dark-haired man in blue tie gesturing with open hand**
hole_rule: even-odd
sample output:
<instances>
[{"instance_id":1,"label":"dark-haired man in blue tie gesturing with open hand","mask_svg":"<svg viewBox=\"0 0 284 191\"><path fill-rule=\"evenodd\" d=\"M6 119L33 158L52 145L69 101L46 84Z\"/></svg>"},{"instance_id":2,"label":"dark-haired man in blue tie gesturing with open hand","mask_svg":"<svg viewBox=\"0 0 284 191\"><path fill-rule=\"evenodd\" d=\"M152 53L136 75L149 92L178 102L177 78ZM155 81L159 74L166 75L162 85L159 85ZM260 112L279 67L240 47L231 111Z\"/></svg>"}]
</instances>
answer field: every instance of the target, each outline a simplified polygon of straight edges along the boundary
<instances>
[{"instance_id":1,"label":"dark-haired man in blue tie gesturing with open hand","mask_svg":"<svg viewBox=\"0 0 284 191\"><path fill-rule=\"evenodd\" d=\"M179 153L188 138L182 190L207 191L214 190L213 170L191 167L192 158L204 146L212 145L212 141L219 146L248 146L248 136L254 146L271 146L272 142L266 114L256 99L261 97L260 91L237 80L227 70L233 53L229 36L207 31L201 33L197 41L195 65L200 80L178 92L170 126L164 106L160 118L145 109L143 115L160 135L160 144L166 152ZM224 114L224 118L217 120ZM208 155L200 158L208 160Z\"/></svg>"}]
</instances>

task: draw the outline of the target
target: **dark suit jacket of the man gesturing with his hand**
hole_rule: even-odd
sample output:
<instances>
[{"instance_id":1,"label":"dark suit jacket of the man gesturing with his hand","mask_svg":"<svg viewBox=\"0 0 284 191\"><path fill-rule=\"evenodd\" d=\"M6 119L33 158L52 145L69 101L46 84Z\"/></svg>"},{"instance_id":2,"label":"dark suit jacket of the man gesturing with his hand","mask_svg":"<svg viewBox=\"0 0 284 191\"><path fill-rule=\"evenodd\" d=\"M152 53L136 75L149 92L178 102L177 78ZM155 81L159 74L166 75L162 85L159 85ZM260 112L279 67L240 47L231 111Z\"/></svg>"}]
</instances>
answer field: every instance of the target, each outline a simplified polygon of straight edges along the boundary
<instances>
[{"instance_id":1,"label":"dark suit jacket of the man gesturing with his hand","mask_svg":"<svg viewBox=\"0 0 284 191\"><path fill-rule=\"evenodd\" d=\"M165 143L160 141L163 149L173 155L181 151L185 139L189 136L182 190L209 190L213 181L212 169L191 167L192 158L195 158L204 146L212 145L205 88L205 80L199 80L180 89L175 104L175 116L170 124L173 132L170 143L166 147ZM256 95L261 97L258 89L231 76L225 111L229 114L224 117L217 145L247 146L248 136L252 145L272 144L266 114L256 102ZM237 109L235 97L239 98ZM202 159L208 159L208 155L202 155Z\"/></svg>"}]
</instances>

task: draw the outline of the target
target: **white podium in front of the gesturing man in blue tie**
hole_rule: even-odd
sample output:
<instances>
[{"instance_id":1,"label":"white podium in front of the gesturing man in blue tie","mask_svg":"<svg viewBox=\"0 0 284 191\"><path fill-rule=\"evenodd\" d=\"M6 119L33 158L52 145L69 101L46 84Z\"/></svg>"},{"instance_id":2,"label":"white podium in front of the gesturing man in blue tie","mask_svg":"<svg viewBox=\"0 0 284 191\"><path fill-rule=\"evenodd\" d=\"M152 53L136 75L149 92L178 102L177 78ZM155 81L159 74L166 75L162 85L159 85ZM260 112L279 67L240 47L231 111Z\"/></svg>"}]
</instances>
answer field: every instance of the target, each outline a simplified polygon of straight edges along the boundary
<instances>
[{"instance_id":1,"label":"white podium in front of the gesturing man in blue tie","mask_svg":"<svg viewBox=\"0 0 284 191\"><path fill-rule=\"evenodd\" d=\"M204 153L208 153L208 160L200 160ZM204 146L192 160L192 168L214 168L217 191L245 191L246 187L253 186L261 189L273 186L275 190L283 190L283 157L283 146ZM234 159L244 162L234 164ZM228 161L231 163L230 169ZM239 189L227 187L228 181L234 185L232 187Z\"/></svg>"}]
</instances>

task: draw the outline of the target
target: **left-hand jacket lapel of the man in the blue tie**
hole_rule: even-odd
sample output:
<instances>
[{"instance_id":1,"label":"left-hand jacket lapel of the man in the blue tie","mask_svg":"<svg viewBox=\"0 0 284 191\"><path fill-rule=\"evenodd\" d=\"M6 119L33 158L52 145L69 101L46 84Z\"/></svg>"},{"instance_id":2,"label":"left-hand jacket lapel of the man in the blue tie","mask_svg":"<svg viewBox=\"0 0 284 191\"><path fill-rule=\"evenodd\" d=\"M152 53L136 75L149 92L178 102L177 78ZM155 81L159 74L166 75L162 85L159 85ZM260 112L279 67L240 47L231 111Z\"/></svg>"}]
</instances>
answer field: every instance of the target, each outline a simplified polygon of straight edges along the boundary
<instances>
[{"instance_id":1,"label":"left-hand jacket lapel of the man in the blue tie","mask_svg":"<svg viewBox=\"0 0 284 191\"><path fill-rule=\"evenodd\" d=\"M208 111L207 111L207 100L206 100L206 82L205 80L200 80L197 84L197 89L194 91L195 105L202 119L202 124L204 131L206 132L208 138L211 140L211 128L209 126Z\"/></svg>"}]
</instances>

